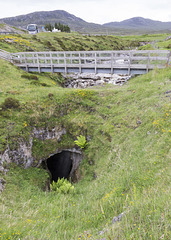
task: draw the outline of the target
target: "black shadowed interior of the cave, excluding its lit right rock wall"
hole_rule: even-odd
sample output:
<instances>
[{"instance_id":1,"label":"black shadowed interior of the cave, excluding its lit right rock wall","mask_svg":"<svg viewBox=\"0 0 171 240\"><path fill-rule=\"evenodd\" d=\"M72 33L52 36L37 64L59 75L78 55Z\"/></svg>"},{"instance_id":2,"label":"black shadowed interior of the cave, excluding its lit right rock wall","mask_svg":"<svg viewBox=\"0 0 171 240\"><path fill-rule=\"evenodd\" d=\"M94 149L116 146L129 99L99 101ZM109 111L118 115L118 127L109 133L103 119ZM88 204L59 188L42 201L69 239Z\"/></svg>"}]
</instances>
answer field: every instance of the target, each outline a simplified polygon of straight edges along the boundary
<instances>
[{"instance_id":1,"label":"black shadowed interior of the cave, excluding its lit right rock wall","mask_svg":"<svg viewBox=\"0 0 171 240\"><path fill-rule=\"evenodd\" d=\"M52 181L58 178L69 178L72 169L71 152L62 151L47 159L47 167L51 173Z\"/></svg>"}]
</instances>

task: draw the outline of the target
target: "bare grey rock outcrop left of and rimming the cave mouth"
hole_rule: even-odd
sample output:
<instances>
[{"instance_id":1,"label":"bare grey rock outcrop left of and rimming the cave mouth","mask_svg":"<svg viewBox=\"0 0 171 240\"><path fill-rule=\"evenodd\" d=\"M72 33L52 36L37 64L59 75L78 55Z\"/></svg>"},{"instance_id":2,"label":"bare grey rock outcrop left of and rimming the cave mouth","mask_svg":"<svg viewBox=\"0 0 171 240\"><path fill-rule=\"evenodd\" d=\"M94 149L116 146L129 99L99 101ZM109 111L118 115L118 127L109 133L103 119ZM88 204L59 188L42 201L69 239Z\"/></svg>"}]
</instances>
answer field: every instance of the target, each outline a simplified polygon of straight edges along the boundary
<instances>
[{"instance_id":1,"label":"bare grey rock outcrop left of and rimming the cave mouth","mask_svg":"<svg viewBox=\"0 0 171 240\"><path fill-rule=\"evenodd\" d=\"M51 157L56 156L61 152L67 152L69 154L69 161L71 166L67 177L70 177L74 181L76 181L77 170L82 160L82 152L80 150L76 148L71 149L56 148L53 152L51 152L48 155L48 157L45 156L44 158L37 160L33 156L32 148L35 139L39 139L41 141L54 139L56 140L56 142L60 142L61 137L64 134L66 134L65 128L55 127L51 130L49 130L48 128L46 129L34 128L33 131L30 133L29 140L27 142L25 142L22 139L19 139L17 144L18 147L16 149L10 149L10 146L8 145L7 149L0 154L0 171L6 173L7 170L5 169L4 165L9 165L10 163L16 163L17 165L21 165L24 168L28 168L31 166L39 167L42 164L42 162L47 163L48 159L50 159ZM45 144L47 144L47 142ZM66 161L63 162L64 162L63 167L65 168ZM60 164L62 164L61 161Z\"/></svg>"}]
</instances>

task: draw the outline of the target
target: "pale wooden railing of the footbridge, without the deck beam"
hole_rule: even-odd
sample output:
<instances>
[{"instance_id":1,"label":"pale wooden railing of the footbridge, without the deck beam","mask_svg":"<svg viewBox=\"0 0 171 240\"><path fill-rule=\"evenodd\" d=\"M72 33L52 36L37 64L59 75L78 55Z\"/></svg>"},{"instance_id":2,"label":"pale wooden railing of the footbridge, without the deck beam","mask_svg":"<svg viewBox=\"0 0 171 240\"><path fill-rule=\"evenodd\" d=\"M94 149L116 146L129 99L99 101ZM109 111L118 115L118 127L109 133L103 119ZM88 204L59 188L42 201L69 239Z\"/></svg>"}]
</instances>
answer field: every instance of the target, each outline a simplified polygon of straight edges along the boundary
<instances>
[{"instance_id":1,"label":"pale wooden railing of the footbridge, without the deck beam","mask_svg":"<svg viewBox=\"0 0 171 240\"><path fill-rule=\"evenodd\" d=\"M58 51L58 52L19 52L11 54L12 62L19 66L86 66L95 68L111 64L146 65L147 68L171 65L169 50L129 50L129 51Z\"/></svg>"}]
</instances>

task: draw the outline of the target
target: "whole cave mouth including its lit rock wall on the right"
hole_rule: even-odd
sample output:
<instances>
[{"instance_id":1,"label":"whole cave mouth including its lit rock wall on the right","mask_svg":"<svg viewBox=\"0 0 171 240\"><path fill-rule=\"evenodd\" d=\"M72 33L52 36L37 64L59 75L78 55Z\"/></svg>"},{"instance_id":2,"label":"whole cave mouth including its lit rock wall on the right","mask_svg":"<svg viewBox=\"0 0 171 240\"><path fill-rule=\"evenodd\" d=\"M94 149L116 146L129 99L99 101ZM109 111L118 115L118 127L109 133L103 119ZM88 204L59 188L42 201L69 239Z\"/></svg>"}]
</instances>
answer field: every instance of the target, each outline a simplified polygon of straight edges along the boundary
<instances>
[{"instance_id":1,"label":"whole cave mouth including its lit rock wall on the right","mask_svg":"<svg viewBox=\"0 0 171 240\"><path fill-rule=\"evenodd\" d=\"M73 182L77 182L81 160L82 153L75 149L62 150L50 156L46 160L46 164L51 174L51 180L56 182L58 178L70 178Z\"/></svg>"}]
</instances>

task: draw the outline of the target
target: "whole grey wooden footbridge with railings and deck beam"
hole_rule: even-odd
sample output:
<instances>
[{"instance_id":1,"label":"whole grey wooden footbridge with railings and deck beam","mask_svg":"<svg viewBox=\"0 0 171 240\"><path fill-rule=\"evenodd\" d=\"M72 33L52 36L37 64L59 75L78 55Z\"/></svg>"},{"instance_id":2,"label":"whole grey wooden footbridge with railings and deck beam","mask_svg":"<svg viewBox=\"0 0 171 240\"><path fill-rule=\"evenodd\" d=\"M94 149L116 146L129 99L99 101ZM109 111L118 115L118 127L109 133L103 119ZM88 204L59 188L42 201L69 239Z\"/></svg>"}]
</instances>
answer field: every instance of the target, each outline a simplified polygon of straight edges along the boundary
<instances>
[{"instance_id":1,"label":"whole grey wooden footbridge with railings and deck beam","mask_svg":"<svg viewBox=\"0 0 171 240\"><path fill-rule=\"evenodd\" d=\"M0 51L0 57L5 56ZM27 72L143 74L171 66L171 51L61 51L7 53L6 58Z\"/></svg>"}]
</instances>

